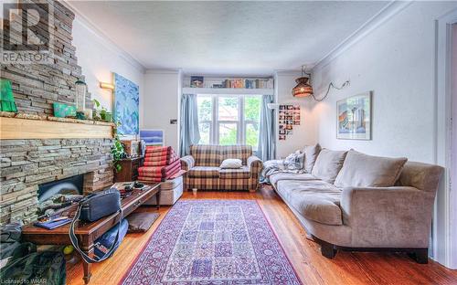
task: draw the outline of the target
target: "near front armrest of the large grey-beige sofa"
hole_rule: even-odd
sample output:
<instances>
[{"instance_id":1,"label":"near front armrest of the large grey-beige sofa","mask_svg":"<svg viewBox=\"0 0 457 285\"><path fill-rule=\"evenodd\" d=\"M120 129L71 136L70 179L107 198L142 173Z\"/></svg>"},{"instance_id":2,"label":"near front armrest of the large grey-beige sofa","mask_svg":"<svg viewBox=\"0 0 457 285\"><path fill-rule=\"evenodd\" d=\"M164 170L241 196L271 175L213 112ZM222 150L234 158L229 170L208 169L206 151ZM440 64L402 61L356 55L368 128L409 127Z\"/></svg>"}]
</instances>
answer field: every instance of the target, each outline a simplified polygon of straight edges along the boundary
<instances>
[{"instance_id":1,"label":"near front armrest of the large grey-beige sofa","mask_svg":"<svg viewBox=\"0 0 457 285\"><path fill-rule=\"evenodd\" d=\"M414 187L346 187L343 224L356 247L427 248L433 201Z\"/></svg>"}]
</instances>

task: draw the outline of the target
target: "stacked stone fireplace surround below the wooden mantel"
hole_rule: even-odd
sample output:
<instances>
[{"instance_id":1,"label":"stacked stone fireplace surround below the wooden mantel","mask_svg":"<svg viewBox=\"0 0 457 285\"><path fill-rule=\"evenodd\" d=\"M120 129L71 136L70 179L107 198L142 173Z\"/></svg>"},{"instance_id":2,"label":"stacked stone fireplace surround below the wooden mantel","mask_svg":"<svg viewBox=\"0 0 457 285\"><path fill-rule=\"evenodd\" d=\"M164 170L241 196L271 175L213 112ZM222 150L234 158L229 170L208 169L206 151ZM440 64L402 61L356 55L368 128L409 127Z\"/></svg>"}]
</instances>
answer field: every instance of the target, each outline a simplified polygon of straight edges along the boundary
<instances>
[{"instance_id":1,"label":"stacked stone fireplace surround below the wooden mantel","mask_svg":"<svg viewBox=\"0 0 457 285\"><path fill-rule=\"evenodd\" d=\"M3 140L0 224L37 218L38 185L77 174L84 192L112 185L110 139Z\"/></svg>"}]
</instances>

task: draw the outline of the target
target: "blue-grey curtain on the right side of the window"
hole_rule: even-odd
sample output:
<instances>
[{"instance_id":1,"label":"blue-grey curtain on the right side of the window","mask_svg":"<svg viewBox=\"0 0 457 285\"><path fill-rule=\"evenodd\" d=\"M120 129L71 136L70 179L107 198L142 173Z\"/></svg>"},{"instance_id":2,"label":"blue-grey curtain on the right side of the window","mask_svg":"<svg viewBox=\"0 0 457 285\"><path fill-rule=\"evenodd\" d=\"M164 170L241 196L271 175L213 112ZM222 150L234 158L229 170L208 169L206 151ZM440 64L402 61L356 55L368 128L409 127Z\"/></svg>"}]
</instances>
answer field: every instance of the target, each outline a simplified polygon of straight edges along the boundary
<instances>
[{"instance_id":1,"label":"blue-grey curtain on the right side of the window","mask_svg":"<svg viewBox=\"0 0 457 285\"><path fill-rule=\"evenodd\" d=\"M274 110L268 108L268 104L272 103L273 100L273 95L263 95L261 98L257 156L264 162L274 159L276 152L274 143Z\"/></svg>"}]
</instances>

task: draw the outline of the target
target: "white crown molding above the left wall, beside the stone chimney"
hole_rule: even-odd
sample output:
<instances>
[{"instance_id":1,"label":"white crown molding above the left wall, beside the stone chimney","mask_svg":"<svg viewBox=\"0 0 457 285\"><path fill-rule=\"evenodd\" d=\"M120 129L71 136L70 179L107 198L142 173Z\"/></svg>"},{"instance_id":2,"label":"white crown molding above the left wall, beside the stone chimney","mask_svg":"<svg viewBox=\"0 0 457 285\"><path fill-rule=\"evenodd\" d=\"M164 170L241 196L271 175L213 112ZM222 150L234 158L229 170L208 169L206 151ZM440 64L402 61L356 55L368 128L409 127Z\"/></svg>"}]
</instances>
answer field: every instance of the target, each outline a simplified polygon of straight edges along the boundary
<instances>
[{"instance_id":1,"label":"white crown molding above the left wall, beside the stone chimney","mask_svg":"<svg viewBox=\"0 0 457 285\"><path fill-rule=\"evenodd\" d=\"M76 15L76 21L80 22L82 26L85 26L88 30L90 30L90 32L92 32L94 36L99 37L101 39L101 42L104 44L104 46L110 48L112 51L119 54L119 56L123 58L126 62L128 62L131 66L133 66L133 68L144 73L145 68L138 59L134 58L130 53L128 53L122 47L119 47L116 43L114 43L110 39L110 37L108 37L103 31L101 31L100 28L95 26L87 16L84 16L80 12L80 10L78 10L74 5L71 5L69 0L64 0L62 1L62 3L64 5L67 5L67 7Z\"/></svg>"}]
</instances>

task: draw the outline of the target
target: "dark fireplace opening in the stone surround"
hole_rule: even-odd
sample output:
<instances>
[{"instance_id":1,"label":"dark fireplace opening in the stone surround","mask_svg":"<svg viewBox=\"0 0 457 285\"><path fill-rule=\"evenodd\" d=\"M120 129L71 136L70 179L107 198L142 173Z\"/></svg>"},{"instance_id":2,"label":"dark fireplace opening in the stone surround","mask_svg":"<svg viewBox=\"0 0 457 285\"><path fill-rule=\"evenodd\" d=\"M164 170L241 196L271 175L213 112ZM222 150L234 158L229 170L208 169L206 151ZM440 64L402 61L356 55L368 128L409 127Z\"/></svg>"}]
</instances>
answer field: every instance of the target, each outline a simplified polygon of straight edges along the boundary
<instances>
[{"instance_id":1,"label":"dark fireplace opening in the stone surround","mask_svg":"<svg viewBox=\"0 0 457 285\"><path fill-rule=\"evenodd\" d=\"M38 185L38 216L50 216L82 198L84 174Z\"/></svg>"}]
</instances>

